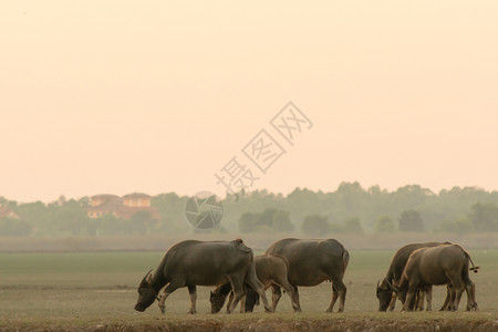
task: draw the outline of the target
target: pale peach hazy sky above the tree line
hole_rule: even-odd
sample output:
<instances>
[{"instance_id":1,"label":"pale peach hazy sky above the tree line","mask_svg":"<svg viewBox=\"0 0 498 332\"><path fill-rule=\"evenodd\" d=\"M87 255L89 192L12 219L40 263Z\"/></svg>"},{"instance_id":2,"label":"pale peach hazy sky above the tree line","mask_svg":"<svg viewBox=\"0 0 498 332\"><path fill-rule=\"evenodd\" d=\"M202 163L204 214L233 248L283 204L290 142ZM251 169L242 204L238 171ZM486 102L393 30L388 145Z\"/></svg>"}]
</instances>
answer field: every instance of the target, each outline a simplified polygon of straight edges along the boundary
<instances>
[{"instance_id":1,"label":"pale peach hazy sky above the tree line","mask_svg":"<svg viewBox=\"0 0 498 332\"><path fill-rule=\"evenodd\" d=\"M294 146L269 121L293 101ZM497 1L3 1L0 196L498 189ZM241 149L262 128L267 174Z\"/></svg>"}]
</instances>

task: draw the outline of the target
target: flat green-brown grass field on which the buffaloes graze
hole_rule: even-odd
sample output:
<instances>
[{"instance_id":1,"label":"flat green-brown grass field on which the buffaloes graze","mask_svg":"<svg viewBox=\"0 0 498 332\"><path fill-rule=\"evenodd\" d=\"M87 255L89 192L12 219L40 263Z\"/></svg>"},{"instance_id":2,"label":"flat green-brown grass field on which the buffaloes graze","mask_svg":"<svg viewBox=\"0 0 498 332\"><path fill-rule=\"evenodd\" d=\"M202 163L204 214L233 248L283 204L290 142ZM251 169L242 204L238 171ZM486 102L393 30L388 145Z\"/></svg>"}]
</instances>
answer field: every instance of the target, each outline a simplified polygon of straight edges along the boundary
<instances>
[{"instance_id":1,"label":"flat green-brown grass field on which the buffaloes graze","mask_svg":"<svg viewBox=\"0 0 498 332\"><path fill-rule=\"evenodd\" d=\"M375 284L384 277L393 253L392 250L350 250L350 266L344 277L347 286L345 313L323 313L331 297L330 283L323 283L300 289L303 309L300 314L292 313L289 298L284 295L277 314L264 314L261 308L257 308L257 312L251 314L211 315L209 288L199 287L199 314L195 317L186 314L189 308L186 288L168 298L164 317L157 304L144 313L134 311L136 287L145 272L157 266L163 252L0 253L0 329L98 330L128 326L135 330L147 324L151 328L170 323L219 324L248 320L305 322L333 319L366 323L369 320L412 323L455 320L461 324L476 321L495 324L498 321L498 250L470 250L474 261L481 267L479 273L470 276L477 287L480 311L464 312L464 294L456 313L401 313L400 303L396 312L377 312ZM271 299L270 292L268 294ZM435 309L440 307L444 295L445 288L436 287Z\"/></svg>"}]
</instances>

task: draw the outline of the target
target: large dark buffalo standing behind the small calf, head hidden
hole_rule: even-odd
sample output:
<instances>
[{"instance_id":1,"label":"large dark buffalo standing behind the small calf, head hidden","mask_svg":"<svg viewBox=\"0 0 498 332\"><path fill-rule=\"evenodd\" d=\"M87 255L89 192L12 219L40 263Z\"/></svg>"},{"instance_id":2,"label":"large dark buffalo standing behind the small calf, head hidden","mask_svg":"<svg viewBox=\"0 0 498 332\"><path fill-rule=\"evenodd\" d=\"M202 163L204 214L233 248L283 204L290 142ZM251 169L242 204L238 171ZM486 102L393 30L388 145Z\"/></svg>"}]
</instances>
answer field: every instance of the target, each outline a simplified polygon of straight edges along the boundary
<instances>
[{"instance_id":1,"label":"large dark buffalo standing behind the small calf, head hidden","mask_svg":"<svg viewBox=\"0 0 498 332\"><path fill-rule=\"evenodd\" d=\"M301 311L298 286L311 287L323 281L332 281L332 300L326 312L332 312L338 298L341 299L339 311L344 311L346 287L342 278L350 261L350 253L339 241L282 239L271 245L266 253L283 256L288 260L288 280L294 288L293 302L297 304L294 311ZM272 286L272 292L274 298L281 297L280 287Z\"/></svg>"}]
</instances>

